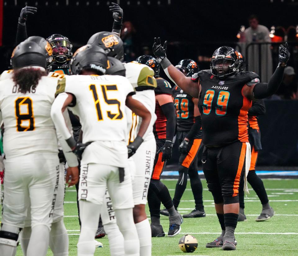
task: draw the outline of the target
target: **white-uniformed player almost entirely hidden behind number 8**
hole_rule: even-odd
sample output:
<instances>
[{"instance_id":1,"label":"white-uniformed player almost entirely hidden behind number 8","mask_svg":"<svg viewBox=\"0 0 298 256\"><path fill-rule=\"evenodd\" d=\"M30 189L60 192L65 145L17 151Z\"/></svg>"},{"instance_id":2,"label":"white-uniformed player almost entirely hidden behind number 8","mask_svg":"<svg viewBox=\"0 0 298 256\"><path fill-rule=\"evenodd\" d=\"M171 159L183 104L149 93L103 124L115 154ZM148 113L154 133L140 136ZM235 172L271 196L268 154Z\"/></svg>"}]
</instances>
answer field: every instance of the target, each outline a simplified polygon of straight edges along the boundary
<instances>
[{"instance_id":1,"label":"white-uniformed player almost entirely hidden behind number 8","mask_svg":"<svg viewBox=\"0 0 298 256\"><path fill-rule=\"evenodd\" d=\"M32 36L29 37L26 41L39 41L40 37ZM50 72L48 77L52 77L53 79L56 79L55 82L53 82L53 87L56 88L56 83L57 79L62 79L64 78L65 75L61 75L56 72ZM13 77L13 70L6 70L2 72L0 76L0 81L5 80L8 78ZM64 115L67 112L64 113ZM66 117L67 120L67 125L69 129L71 130L71 124L68 122L69 118ZM59 153L58 157L60 160L59 163L59 180L58 181L58 187L55 189L55 208L53 212L53 223L51 225L51 231L50 231L50 242L49 246L53 252L53 256L67 256L68 255L68 247L69 247L69 239L68 239L68 234L67 230L65 228L64 222L63 222L63 216L64 216L64 196L65 196L65 163L64 161L66 160L68 168L72 169L74 168L75 170L78 169L78 159L76 155L72 152L70 152L70 148L65 142L64 139L61 139L61 135L57 134L57 137L59 139ZM63 144L63 147L61 147L61 144ZM64 150L64 152L62 151ZM4 164L3 164L4 166ZM78 171L78 170L77 170ZM25 219L25 225L22 231L20 232L20 245L22 247L22 251L24 256L27 254L27 247L29 243L29 239L31 236L31 208L28 207L27 210L27 217ZM99 242L97 242L99 243ZM102 246L102 244L101 244Z\"/></svg>"}]
</instances>

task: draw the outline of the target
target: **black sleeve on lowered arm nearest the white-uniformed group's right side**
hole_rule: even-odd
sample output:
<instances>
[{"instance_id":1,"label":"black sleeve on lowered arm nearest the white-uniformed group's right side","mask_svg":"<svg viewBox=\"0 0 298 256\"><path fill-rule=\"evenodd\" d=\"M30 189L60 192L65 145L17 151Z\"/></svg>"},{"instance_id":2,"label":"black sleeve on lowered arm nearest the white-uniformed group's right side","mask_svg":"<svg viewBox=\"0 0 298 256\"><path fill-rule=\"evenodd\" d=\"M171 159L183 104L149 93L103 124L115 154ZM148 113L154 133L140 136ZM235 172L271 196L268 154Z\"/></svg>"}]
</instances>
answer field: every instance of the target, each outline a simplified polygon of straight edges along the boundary
<instances>
[{"instance_id":1,"label":"black sleeve on lowered arm nearest the white-uniformed group's right side","mask_svg":"<svg viewBox=\"0 0 298 256\"><path fill-rule=\"evenodd\" d=\"M166 123L166 141L173 141L177 122L176 109L173 102L161 105L161 110L167 119Z\"/></svg>"}]
</instances>

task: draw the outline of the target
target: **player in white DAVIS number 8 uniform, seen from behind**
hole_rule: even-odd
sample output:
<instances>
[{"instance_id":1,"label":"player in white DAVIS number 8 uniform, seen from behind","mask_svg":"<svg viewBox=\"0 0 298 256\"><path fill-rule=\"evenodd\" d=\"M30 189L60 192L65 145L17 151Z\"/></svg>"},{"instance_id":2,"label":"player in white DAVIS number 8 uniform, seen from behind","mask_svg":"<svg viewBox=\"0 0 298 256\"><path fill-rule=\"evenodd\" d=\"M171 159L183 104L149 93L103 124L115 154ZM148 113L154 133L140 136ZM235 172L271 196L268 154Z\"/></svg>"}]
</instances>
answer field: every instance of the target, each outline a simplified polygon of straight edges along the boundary
<instances>
[{"instance_id":1,"label":"player in white DAVIS number 8 uniform, seen from behind","mask_svg":"<svg viewBox=\"0 0 298 256\"><path fill-rule=\"evenodd\" d=\"M0 255L16 254L30 205L32 233L27 254L47 254L59 179L58 143L50 116L56 82L47 77L51 49L42 37L22 42L12 53L12 78L0 82L6 158ZM77 181L73 172L70 184Z\"/></svg>"}]
</instances>

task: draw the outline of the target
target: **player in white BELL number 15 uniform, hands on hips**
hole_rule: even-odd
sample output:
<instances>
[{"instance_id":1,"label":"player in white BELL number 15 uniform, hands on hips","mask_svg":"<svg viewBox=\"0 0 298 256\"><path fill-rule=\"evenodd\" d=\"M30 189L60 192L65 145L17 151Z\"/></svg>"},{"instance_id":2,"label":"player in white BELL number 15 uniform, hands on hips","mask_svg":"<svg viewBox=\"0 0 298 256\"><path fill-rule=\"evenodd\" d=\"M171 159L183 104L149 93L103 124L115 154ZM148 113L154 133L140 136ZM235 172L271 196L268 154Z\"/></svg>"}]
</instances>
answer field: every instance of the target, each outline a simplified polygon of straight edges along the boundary
<instances>
[{"instance_id":1,"label":"player in white BELL number 15 uniform, hands on hips","mask_svg":"<svg viewBox=\"0 0 298 256\"><path fill-rule=\"evenodd\" d=\"M78 255L93 255L93 238L101 205L108 188L117 224L124 236L125 255L139 255L139 240L133 225L133 195L127 159L146 138L154 116L132 95L132 85L122 76L105 76L107 57L101 47L86 45L74 54L73 74L61 80L52 106L52 119L58 130L75 151L78 147L65 126L62 112L66 107L80 118L83 145L79 204L82 212ZM94 76L95 75L95 76ZM96 76L99 75L99 76ZM126 146L125 105L142 117L142 124L133 143ZM82 145L80 145L82 146Z\"/></svg>"}]
</instances>

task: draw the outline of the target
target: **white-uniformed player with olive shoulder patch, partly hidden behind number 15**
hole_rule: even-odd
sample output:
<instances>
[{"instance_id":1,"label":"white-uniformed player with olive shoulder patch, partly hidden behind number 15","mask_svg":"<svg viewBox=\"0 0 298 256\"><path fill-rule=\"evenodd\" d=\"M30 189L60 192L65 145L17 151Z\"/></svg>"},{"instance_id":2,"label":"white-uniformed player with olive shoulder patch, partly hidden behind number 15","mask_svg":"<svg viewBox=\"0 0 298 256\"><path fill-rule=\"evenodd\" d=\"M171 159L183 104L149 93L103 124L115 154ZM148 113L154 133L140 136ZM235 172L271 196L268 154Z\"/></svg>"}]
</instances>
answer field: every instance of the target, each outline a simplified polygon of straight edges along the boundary
<instances>
[{"instance_id":1,"label":"white-uniformed player with olive shoulder patch, partly hidden behind number 15","mask_svg":"<svg viewBox=\"0 0 298 256\"><path fill-rule=\"evenodd\" d=\"M114 30L113 30L114 31ZM88 43L101 46L111 58L118 60L123 59L123 42L114 33L99 32L94 34L88 40ZM121 74L121 68L116 64L116 61L109 59L109 66L107 68L108 74ZM146 66L136 62L124 64L126 77L136 90L136 99L141 101L155 116L155 94L156 80L154 78L154 71ZM140 120L139 124L142 124ZM133 199L134 209L133 216L136 224L138 235L140 239L140 254L142 256L151 255L151 228L149 220L145 212L145 205L147 203L148 185L151 179L151 173L154 165L154 158L156 152L156 144L153 135L153 127L150 127L150 133L146 137L146 143L138 149L133 160L136 166L136 172L133 180ZM132 138L129 140L131 141ZM154 145L155 144L155 145ZM150 231L149 231L150 230Z\"/></svg>"}]
</instances>

